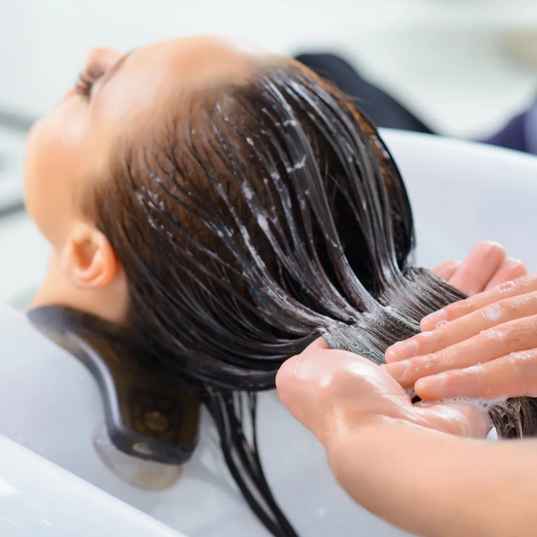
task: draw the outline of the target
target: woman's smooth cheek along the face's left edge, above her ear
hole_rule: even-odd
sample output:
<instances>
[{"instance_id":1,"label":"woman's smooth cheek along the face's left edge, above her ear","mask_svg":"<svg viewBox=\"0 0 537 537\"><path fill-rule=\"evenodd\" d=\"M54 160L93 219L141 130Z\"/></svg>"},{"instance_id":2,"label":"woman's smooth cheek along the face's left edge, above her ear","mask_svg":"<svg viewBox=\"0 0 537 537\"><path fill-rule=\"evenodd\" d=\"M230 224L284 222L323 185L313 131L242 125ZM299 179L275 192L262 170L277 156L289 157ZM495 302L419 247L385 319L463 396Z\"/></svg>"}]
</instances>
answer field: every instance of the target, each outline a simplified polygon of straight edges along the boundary
<instances>
[{"instance_id":1,"label":"woman's smooth cheek along the face's left edge, above her ear","mask_svg":"<svg viewBox=\"0 0 537 537\"><path fill-rule=\"evenodd\" d=\"M24 201L28 214L43 235L60 245L72 213L72 195L81 140L72 129L47 118L28 135L24 173Z\"/></svg>"}]
</instances>

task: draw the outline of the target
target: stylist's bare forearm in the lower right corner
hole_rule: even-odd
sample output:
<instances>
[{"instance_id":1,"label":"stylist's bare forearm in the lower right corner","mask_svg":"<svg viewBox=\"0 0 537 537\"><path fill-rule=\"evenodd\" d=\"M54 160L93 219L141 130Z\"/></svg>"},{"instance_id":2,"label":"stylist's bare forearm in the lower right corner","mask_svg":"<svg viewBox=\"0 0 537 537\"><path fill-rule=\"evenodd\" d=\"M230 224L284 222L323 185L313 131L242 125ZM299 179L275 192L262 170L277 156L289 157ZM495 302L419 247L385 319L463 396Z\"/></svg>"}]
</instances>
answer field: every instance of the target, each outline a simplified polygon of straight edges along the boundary
<instances>
[{"instance_id":1,"label":"stylist's bare forearm in the lower right corner","mask_svg":"<svg viewBox=\"0 0 537 537\"><path fill-rule=\"evenodd\" d=\"M448 436L383 419L328 446L347 493L369 511L427 537L537 533L537 444Z\"/></svg>"}]
</instances>

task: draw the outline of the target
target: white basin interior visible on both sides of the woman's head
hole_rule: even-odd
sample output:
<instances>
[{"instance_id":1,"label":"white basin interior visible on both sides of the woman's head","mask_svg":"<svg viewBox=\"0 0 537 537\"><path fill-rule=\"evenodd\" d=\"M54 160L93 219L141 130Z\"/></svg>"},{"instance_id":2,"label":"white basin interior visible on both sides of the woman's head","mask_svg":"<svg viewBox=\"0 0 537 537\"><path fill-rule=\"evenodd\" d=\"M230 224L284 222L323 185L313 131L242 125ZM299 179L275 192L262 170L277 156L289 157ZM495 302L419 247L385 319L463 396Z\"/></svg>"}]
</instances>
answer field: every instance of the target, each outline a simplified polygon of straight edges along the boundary
<instances>
[{"instance_id":1,"label":"white basin interior visible on both sides of the woman's head","mask_svg":"<svg viewBox=\"0 0 537 537\"><path fill-rule=\"evenodd\" d=\"M537 269L537 158L405 133L384 137L415 208L420 264L463 257L477 241L494 238ZM189 537L266 537L223 467L206 415L201 444L180 481L168 491L136 490L93 451L92 434L103 416L95 383L82 365L9 310L0 317L0 358L0 434ZM266 474L300 535L403 535L339 490L323 450L275 394L260 399Z\"/></svg>"}]
</instances>

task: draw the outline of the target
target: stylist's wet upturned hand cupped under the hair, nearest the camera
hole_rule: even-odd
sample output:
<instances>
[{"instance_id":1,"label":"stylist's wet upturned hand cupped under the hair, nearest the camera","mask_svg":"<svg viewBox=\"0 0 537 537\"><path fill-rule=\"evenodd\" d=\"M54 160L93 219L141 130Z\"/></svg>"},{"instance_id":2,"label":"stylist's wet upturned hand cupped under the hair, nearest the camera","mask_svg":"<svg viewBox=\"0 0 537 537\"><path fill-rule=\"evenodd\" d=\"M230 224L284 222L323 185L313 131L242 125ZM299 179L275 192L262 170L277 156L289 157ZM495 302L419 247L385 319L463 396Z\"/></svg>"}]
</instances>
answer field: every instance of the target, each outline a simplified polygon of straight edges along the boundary
<instances>
[{"instance_id":1,"label":"stylist's wet upturned hand cupped under the hair, nearest the camera","mask_svg":"<svg viewBox=\"0 0 537 537\"><path fill-rule=\"evenodd\" d=\"M490 418L467 404L412 405L390 375L351 352L332 350L322 338L287 360L276 378L278 394L293 416L330 452L333 442L375 420L484 438Z\"/></svg>"}]
</instances>

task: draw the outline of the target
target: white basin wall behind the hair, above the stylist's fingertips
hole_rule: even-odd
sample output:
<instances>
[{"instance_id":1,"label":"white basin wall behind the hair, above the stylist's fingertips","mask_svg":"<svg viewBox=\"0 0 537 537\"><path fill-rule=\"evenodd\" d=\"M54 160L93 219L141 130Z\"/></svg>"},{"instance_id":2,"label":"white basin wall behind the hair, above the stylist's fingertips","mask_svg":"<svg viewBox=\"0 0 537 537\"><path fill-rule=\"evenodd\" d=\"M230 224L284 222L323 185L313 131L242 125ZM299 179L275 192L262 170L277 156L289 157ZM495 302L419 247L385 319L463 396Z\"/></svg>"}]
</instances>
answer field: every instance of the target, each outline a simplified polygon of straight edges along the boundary
<instances>
[{"instance_id":1,"label":"white basin wall behind the hair, above the stylist's fingertips","mask_svg":"<svg viewBox=\"0 0 537 537\"><path fill-rule=\"evenodd\" d=\"M382 136L410 195L418 264L462 259L489 238L537 271L537 157L392 130Z\"/></svg>"}]
</instances>

